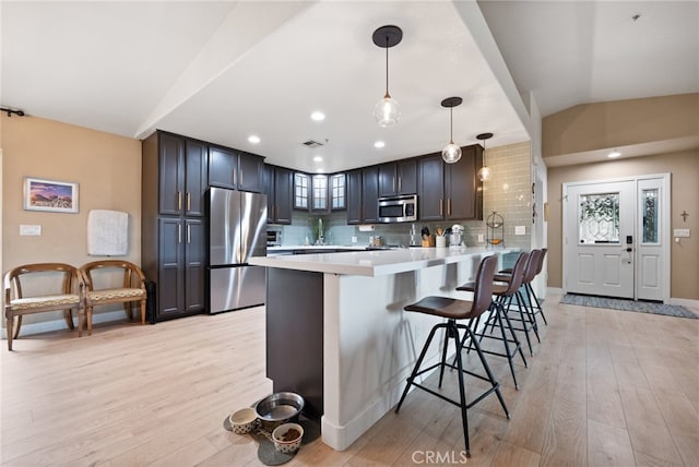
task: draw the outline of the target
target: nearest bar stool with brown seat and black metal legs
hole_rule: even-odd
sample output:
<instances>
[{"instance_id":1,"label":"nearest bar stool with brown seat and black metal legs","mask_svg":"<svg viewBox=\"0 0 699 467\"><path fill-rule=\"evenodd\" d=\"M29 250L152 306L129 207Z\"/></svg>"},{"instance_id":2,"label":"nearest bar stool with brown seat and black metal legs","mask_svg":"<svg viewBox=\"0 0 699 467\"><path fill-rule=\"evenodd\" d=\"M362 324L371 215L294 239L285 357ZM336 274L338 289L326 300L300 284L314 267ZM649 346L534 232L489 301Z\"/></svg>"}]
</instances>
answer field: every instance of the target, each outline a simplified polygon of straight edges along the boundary
<instances>
[{"instance_id":1,"label":"nearest bar stool with brown seat and black metal legs","mask_svg":"<svg viewBox=\"0 0 699 467\"><path fill-rule=\"evenodd\" d=\"M459 300L454 298L428 296L423 298L418 302L408 304L404 308L405 311L414 311L417 313L426 313L426 314L431 314L434 316L446 318L447 322L436 324L435 326L433 326L431 331L429 332L429 336L427 337L427 342L423 346L423 350L420 351L419 357L417 358L415 368L413 369L413 372L411 373L411 375L407 378L407 384L405 385L403 395L401 396L401 399L399 400L398 406L395 407L395 412L398 414L398 411L401 409L401 406L403 405L403 402L405 400L405 396L407 396L407 392L411 388L411 386L419 387L420 390L426 391L439 397L440 399L443 399L450 404L455 405L457 407L460 407L461 422L463 426L463 435L464 435L464 443L465 443L467 457L471 457L471 446L469 444L467 409L470 409L475 404L483 400L489 394L496 393L496 395L498 396L498 399L500 400L500 405L502 406L502 410L505 410L505 415L507 416L508 419L510 418L510 412L508 411L507 406L505 405L505 399L502 398L502 394L500 393L500 385L495 380L495 376L490 371L490 367L488 367L485 356L481 350L481 346L475 339L475 335L473 334L473 332L467 325L457 323L457 320L470 320L473 318L477 318L481 314L483 314L486 310L488 310L491 301L491 295L493 295L493 277L495 276L495 270L497 267L497 263L498 263L498 259L495 255L487 256L481 261L481 264L478 265L478 272L476 274L476 282L475 282L476 287L474 290L472 301ZM433 342L433 338L435 337L435 333L441 328L446 331L445 342L443 342L442 351L441 351L441 359L439 362L420 370L420 364L423 363L423 360L425 359L425 355L427 354L427 349L429 348L429 345ZM460 338L459 330L463 330L464 334L471 337L471 340L473 342L473 346L476 349L476 352L478 354L478 358L481 359L481 363L483 364L483 368L487 376L483 376L478 373L467 371L463 368L463 362L461 359L462 339ZM447 348L448 348L450 338L454 339L454 350L457 355L455 367L447 362ZM419 384L415 381L415 379L418 375L426 373L428 371L431 371L437 367L440 368L439 387L441 387L446 367L459 370L459 400L458 402L449 397L446 397L445 395L439 394L438 392L423 384ZM472 376L478 378L483 381L487 381L490 383L490 387L484 393L482 393L479 396L477 396L475 399L473 399L471 403L466 403L466 391L465 391L465 385L463 381L464 373L471 374Z\"/></svg>"}]
</instances>

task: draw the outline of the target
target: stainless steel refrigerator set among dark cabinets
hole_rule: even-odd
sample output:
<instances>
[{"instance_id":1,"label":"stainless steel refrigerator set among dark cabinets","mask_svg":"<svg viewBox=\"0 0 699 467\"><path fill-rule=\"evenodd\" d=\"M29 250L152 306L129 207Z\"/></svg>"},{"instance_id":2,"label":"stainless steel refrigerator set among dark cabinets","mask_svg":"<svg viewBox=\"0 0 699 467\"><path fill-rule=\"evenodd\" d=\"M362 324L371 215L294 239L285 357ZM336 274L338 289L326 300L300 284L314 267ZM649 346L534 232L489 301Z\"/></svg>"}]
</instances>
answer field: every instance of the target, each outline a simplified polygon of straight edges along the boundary
<instances>
[{"instance_id":1,"label":"stainless steel refrigerator set among dark cabinets","mask_svg":"<svg viewBox=\"0 0 699 467\"><path fill-rule=\"evenodd\" d=\"M266 255L266 195L212 188L209 209L210 312L263 304L265 268L248 261Z\"/></svg>"}]
</instances>

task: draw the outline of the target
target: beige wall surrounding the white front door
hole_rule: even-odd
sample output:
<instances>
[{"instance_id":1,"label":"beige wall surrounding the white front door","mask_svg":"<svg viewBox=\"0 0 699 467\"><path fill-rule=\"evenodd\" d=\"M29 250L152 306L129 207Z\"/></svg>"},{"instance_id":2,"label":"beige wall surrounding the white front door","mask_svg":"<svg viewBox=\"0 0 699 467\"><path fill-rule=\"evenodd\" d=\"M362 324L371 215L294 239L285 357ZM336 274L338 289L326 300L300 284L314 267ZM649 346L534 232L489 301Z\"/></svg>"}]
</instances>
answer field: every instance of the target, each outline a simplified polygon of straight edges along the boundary
<instances>
[{"instance_id":1,"label":"beige wall surrounding the white front door","mask_svg":"<svg viewBox=\"0 0 699 467\"><path fill-rule=\"evenodd\" d=\"M699 300L699 149L548 169L548 286L562 286L562 183L671 173L671 229L691 237L671 247L671 298ZM679 215L689 213L687 221Z\"/></svg>"}]
</instances>

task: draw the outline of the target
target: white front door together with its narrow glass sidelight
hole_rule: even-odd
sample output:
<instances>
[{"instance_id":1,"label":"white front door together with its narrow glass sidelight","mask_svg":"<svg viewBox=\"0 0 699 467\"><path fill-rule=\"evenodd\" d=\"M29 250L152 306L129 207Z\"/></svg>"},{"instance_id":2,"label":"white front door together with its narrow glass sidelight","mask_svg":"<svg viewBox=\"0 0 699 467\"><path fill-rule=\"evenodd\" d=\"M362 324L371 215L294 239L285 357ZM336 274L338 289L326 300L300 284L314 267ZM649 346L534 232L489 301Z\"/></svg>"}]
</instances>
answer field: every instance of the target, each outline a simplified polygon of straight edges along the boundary
<instances>
[{"instance_id":1,"label":"white front door together with its narrow glass sidelight","mask_svg":"<svg viewBox=\"0 0 699 467\"><path fill-rule=\"evenodd\" d=\"M668 185L668 175L564 184L566 291L670 297Z\"/></svg>"}]
</instances>

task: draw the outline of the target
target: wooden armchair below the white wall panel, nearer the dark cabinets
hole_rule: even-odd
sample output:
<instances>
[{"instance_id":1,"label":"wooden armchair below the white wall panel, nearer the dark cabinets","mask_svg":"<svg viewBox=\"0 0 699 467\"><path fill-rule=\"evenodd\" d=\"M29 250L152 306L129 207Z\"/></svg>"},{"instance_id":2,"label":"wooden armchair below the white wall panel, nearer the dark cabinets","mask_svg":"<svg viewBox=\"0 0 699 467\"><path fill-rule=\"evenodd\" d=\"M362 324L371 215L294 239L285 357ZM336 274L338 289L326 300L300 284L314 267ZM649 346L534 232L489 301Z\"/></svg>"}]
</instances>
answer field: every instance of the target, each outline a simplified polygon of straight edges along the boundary
<instances>
[{"instance_id":1,"label":"wooden armchair below the white wall panel, nearer the dark cabinets","mask_svg":"<svg viewBox=\"0 0 699 467\"><path fill-rule=\"evenodd\" d=\"M110 272L121 270L123 282L121 287L97 287L96 271ZM133 319L131 303L141 303L141 324L145 324L145 276L139 266L122 260L102 260L80 266L80 272L85 282L85 314L87 315L87 334L92 334L92 312L94 307L107 303L123 303L127 316ZM102 283L103 280L100 280ZM82 332L82 322L80 323Z\"/></svg>"}]
</instances>

